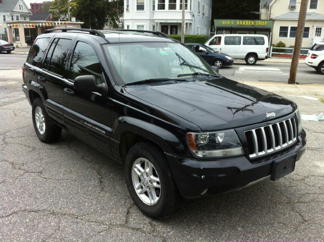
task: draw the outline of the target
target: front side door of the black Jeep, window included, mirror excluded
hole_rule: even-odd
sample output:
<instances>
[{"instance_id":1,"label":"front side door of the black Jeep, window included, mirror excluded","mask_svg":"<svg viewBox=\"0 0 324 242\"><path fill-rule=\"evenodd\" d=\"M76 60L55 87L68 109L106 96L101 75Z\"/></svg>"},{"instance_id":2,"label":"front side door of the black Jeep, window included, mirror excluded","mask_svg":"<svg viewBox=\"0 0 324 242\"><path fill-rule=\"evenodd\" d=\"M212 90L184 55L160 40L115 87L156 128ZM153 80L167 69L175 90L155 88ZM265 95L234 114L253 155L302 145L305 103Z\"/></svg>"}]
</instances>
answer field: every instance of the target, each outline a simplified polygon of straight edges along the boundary
<instances>
[{"instance_id":1,"label":"front side door of the black Jeep, window included, mirror excluded","mask_svg":"<svg viewBox=\"0 0 324 242\"><path fill-rule=\"evenodd\" d=\"M107 95L90 91L77 91L74 79L82 75L94 75L97 84L106 83L99 43L90 36L79 35L73 45L69 60L69 78L64 82L64 122L76 137L110 154L109 136L110 100Z\"/></svg>"}]
</instances>

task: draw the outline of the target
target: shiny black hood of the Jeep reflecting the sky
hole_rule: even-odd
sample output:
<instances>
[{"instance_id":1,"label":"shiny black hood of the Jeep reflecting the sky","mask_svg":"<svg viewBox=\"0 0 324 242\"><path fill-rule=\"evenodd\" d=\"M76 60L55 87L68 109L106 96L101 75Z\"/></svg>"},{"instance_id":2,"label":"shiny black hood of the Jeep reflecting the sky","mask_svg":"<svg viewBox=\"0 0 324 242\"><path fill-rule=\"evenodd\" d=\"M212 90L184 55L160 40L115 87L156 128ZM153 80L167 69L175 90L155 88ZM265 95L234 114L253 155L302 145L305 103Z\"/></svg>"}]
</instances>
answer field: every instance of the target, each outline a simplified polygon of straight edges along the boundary
<instances>
[{"instance_id":1,"label":"shiny black hood of the Jeep reflecting the sky","mask_svg":"<svg viewBox=\"0 0 324 242\"><path fill-rule=\"evenodd\" d=\"M225 77L130 86L125 90L204 131L257 124L290 114L297 108L286 98Z\"/></svg>"}]
</instances>

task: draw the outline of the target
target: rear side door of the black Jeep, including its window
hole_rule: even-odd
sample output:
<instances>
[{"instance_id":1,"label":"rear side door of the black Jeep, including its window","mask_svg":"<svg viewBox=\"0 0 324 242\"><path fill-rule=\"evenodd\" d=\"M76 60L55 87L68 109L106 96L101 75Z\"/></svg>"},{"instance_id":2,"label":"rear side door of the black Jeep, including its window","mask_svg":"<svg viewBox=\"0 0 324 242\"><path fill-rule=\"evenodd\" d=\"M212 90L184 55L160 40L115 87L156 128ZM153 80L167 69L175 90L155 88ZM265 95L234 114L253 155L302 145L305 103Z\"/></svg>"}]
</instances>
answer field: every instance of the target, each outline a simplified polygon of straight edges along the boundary
<instances>
[{"instance_id":1,"label":"rear side door of the black Jeep, including its window","mask_svg":"<svg viewBox=\"0 0 324 242\"><path fill-rule=\"evenodd\" d=\"M72 37L68 34L55 35L43 68L38 74L38 84L42 86L44 104L48 114L57 122L63 124L63 82L67 77L66 60Z\"/></svg>"}]
</instances>

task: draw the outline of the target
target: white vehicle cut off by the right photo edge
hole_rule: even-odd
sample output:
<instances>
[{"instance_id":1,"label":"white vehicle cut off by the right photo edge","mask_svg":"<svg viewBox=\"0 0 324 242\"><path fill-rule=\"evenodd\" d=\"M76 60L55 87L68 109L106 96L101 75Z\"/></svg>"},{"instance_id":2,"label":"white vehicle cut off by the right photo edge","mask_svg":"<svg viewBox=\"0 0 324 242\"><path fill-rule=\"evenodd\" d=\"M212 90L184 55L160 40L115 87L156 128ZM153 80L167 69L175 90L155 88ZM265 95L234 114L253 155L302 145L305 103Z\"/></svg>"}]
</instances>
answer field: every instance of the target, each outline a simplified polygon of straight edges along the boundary
<instances>
[{"instance_id":1,"label":"white vehicle cut off by the right photo edge","mask_svg":"<svg viewBox=\"0 0 324 242\"><path fill-rule=\"evenodd\" d=\"M316 43L309 49L305 64L324 75L324 42Z\"/></svg>"}]
</instances>

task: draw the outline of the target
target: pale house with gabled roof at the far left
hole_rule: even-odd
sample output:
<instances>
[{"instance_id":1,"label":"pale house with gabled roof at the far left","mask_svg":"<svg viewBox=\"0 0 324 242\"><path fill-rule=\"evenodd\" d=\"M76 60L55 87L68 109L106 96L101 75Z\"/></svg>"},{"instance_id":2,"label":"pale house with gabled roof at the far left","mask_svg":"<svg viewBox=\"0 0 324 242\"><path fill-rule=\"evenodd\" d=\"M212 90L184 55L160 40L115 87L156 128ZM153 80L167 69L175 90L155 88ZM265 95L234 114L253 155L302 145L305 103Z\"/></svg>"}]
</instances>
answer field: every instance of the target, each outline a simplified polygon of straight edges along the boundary
<instances>
[{"instance_id":1,"label":"pale house with gabled roof at the far left","mask_svg":"<svg viewBox=\"0 0 324 242\"><path fill-rule=\"evenodd\" d=\"M32 13L24 0L0 0L0 35L2 39L8 41L7 28L3 28L6 21L29 21ZM12 30L15 36L17 32ZM19 36L18 36L19 37Z\"/></svg>"}]
</instances>

